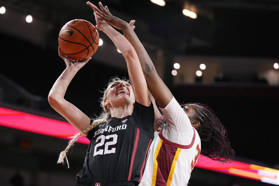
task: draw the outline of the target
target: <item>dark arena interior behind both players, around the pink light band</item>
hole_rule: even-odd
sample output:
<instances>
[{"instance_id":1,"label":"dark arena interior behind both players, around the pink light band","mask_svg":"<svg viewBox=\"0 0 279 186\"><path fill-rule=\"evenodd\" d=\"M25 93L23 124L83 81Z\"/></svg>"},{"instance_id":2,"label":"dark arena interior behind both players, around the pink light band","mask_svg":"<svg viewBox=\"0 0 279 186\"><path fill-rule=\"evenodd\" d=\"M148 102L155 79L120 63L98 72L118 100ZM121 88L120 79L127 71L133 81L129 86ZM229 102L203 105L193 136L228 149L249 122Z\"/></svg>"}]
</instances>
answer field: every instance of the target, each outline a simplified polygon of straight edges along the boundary
<instances>
[{"instance_id":1,"label":"dark arena interior behind both players, around the pink light band","mask_svg":"<svg viewBox=\"0 0 279 186\"><path fill-rule=\"evenodd\" d=\"M228 130L236 160L279 169L279 70L273 67L279 62L279 1L165 2L102 1L113 15L136 20L135 32L177 100L205 103L214 110ZM81 0L0 0L1 6L6 12L0 14L0 107L65 121L47 102L65 69L57 51L58 33L72 19L95 24L92 9ZM183 8L196 12L197 18L183 15ZM33 22L27 23L26 15ZM110 77L128 77L123 56L106 35L99 35L103 45L65 95L92 117L101 112L100 91ZM180 64L176 76L171 74L174 63ZM206 69L199 69L201 63ZM196 76L197 70L203 75ZM86 144L77 143L70 151L67 169L56 164L67 140L4 126L0 134L0 185L12 185L10 178L17 172L26 186L75 184ZM189 185L271 184L194 168Z\"/></svg>"}]
</instances>

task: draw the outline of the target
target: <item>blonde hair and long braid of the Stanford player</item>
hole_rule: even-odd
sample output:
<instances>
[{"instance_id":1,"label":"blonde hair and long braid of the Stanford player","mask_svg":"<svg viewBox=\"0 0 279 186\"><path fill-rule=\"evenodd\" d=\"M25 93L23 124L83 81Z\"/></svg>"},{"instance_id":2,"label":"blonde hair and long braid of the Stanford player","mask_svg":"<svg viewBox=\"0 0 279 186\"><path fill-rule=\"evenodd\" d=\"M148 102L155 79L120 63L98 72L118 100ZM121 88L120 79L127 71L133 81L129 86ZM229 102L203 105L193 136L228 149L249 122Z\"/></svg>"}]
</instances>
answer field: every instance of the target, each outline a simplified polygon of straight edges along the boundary
<instances>
[{"instance_id":1,"label":"blonde hair and long braid of the Stanford player","mask_svg":"<svg viewBox=\"0 0 279 186\"><path fill-rule=\"evenodd\" d=\"M78 140L78 137L82 136L84 133L89 132L90 130L95 128L97 125L107 122L111 118L110 110L107 106L104 106L104 101L108 96L108 90L110 89L110 86L117 81L126 81L126 82L130 83L130 80L128 80L126 78L120 79L118 77L113 77L112 79L110 79L110 81L108 82L107 88L103 92L103 97L100 98L101 107L103 108L101 114L99 115L99 117L96 117L94 119L94 121L85 130L77 133L73 137L70 137L72 139L68 142L68 146L66 147L66 149L59 154L57 163L62 163L64 165L64 160L66 159L66 162L67 162L67 165L69 168L69 161L68 161L66 153L69 151L71 146L73 146L75 144L76 140Z\"/></svg>"}]
</instances>

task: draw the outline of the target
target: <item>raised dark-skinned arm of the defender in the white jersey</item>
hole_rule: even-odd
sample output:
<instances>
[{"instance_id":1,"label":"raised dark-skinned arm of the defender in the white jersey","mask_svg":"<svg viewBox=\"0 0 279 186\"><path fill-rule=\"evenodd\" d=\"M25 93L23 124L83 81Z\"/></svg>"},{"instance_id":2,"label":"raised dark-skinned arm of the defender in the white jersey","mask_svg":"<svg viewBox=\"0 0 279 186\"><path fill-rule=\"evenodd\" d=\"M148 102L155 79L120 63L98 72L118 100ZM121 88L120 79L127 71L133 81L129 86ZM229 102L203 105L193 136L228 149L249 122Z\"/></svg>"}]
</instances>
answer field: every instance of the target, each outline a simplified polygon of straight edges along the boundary
<instances>
[{"instance_id":1,"label":"raised dark-skinned arm of the defender in the white jersey","mask_svg":"<svg viewBox=\"0 0 279 186\"><path fill-rule=\"evenodd\" d=\"M103 20L105 20L106 22L114 26L115 28L121 29L125 37L135 48L135 51L137 52L137 56L139 57L140 60L142 71L144 72L144 76L149 91L153 95L159 107L165 108L166 105L171 101L173 95L170 92L169 88L164 84L162 79L158 76L156 69L148 53L142 46L142 43L140 42L137 35L133 31L133 28L131 28L131 26L127 22L113 16L108 10L108 7L107 6L103 7L101 2L99 3L99 6L102 11L99 10L96 6L93 7L96 14L100 16Z\"/></svg>"}]
</instances>

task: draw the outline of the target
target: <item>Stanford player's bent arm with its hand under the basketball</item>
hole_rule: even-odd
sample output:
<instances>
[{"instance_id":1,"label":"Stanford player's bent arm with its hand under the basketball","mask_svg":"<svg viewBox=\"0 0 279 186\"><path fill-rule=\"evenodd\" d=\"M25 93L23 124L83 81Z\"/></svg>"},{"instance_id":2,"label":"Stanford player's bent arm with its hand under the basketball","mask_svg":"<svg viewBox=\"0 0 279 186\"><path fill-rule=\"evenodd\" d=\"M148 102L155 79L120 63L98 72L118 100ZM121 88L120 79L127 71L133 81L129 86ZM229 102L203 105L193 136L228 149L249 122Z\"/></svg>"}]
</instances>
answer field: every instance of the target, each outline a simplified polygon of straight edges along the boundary
<instances>
[{"instance_id":1,"label":"Stanford player's bent arm with its hand under the basketball","mask_svg":"<svg viewBox=\"0 0 279 186\"><path fill-rule=\"evenodd\" d=\"M81 69L90 59L87 58L83 62L71 62L60 48L58 49L59 56L65 61L66 69L62 72L56 82L53 84L48 100L51 107L62 115L70 124L72 124L80 132L85 130L90 125L90 119L81 110L64 99L67 87L71 80L76 75L77 71ZM87 135L85 133L84 135Z\"/></svg>"}]
</instances>

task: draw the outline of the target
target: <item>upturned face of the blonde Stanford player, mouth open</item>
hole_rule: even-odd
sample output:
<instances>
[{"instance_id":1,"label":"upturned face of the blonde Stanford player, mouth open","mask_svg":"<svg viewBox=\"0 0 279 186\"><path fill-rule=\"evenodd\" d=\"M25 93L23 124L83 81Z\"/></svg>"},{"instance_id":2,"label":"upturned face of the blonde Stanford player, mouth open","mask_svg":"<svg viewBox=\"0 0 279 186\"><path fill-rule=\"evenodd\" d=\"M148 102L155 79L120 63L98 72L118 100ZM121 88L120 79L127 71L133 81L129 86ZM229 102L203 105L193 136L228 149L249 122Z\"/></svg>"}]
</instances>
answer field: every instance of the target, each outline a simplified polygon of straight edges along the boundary
<instances>
[{"instance_id":1,"label":"upturned face of the blonde Stanford player, mouth open","mask_svg":"<svg viewBox=\"0 0 279 186\"><path fill-rule=\"evenodd\" d=\"M130 83L126 81L117 81L110 85L107 101L112 107L133 104L135 95Z\"/></svg>"}]
</instances>

